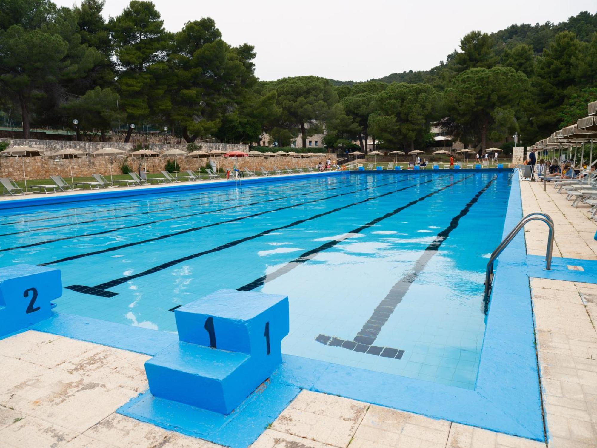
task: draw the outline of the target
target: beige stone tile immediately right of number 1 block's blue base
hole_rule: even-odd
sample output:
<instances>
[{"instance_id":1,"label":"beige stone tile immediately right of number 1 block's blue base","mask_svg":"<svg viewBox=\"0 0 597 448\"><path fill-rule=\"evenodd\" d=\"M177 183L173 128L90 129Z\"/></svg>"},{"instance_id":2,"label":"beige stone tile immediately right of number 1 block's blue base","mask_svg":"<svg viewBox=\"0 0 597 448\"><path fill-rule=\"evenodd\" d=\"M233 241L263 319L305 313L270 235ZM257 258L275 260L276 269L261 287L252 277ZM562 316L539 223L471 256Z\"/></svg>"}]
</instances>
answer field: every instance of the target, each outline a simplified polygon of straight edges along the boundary
<instances>
[{"instance_id":1,"label":"beige stone tile immediately right of number 1 block's blue base","mask_svg":"<svg viewBox=\"0 0 597 448\"><path fill-rule=\"evenodd\" d=\"M337 447L346 447L368 404L334 395L301 391L273 422L272 429Z\"/></svg>"}]
</instances>

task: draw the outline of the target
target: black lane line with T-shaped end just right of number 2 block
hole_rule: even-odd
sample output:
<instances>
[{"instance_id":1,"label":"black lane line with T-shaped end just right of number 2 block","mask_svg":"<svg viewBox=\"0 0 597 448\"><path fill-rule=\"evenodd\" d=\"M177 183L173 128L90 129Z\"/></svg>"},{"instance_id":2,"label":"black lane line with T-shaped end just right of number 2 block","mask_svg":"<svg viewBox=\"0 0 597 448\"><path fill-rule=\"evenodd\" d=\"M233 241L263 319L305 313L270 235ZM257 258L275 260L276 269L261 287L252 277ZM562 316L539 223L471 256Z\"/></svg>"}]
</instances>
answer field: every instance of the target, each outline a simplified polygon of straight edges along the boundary
<instances>
[{"instance_id":1,"label":"black lane line with T-shaped end just right of number 2 block","mask_svg":"<svg viewBox=\"0 0 597 448\"><path fill-rule=\"evenodd\" d=\"M390 194L394 194L394 193L397 193L397 192L400 192L400 191L404 191L404 190L406 190L408 188L413 188L413 187L416 187L416 186L420 186L420 185L423 185L424 183L432 182L432 180L433 179L429 179L429 180L426 180L425 182L418 182L418 183L415 183L414 185L409 185L407 187L399 188L399 189L394 190L394 191L389 191L387 193L383 193L383 194L380 194L380 195L377 195L377 196L372 196L370 198L365 198L362 201L352 202L352 204L343 205L342 207L337 207L337 208L334 208L333 210L324 211L323 213L318 213L318 214L315 214L315 215L310 216L308 218L299 219L297 221L291 222L290 224L286 224L286 225L283 225L283 226L279 226L279 227L275 227L275 228L272 228L272 229L264 230L263 232L259 232L259 234L251 235L250 237L241 238L241 239L235 240L235 241L230 241L229 243L222 244L221 246L214 247L213 249L210 249L210 250L204 250L204 251L201 251L199 253L195 253L195 254L192 254L192 255L187 255L185 257L181 257L179 259L172 260L172 261L167 262L167 263L162 263L161 265L154 266L153 268L147 269L146 271L139 272L139 274L127 275L126 277L116 278L115 280L107 281L106 283L101 283L99 285L91 286L91 287L90 286L82 286L82 285L70 285L70 286L67 286L66 288L70 289L70 290L73 290L73 291L76 291L76 292L79 292L79 293L91 294L93 296L113 297L113 296L118 295L118 293L114 293L114 292L111 292L111 291L106 291L106 289L112 288L114 286L118 286L118 285L120 285L122 283L126 283L129 280L134 280L135 278L144 277L145 275L155 274L155 272L162 271L163 269L170 268L171 266L177 265L179 263L183 263L183 262L185 262L187 260L192 260L192 259L204 256L204 255L207 255L207 254L210 254L210 253L219 252L220 250L224 250L224 249L227 249L227 248L230 248L230 247L238 246L238 244L245 243L245 241L250 241L250 240L254 240L254 239L259 238L259 237L263 237L264 235L270 234L271 232L276 232L276 231L279 231L279 230L288 229L288 228L297 226L299 224L302 224L304 222L307 222L307 221L310 221L310 220L313 220L313 219L317 219L319 217L326 216L326 215L331 214L331 213L336 213L336 211L340 211L340 210L344 210L344 209L349 208L349 207L353 207L354 205L364 204L365 202L373 201L374 199L378 199L378 198L381 198L381 197L384 197L384 196L387 196L387 195L390 195ZM372 186L370 188L376 188L376 186Z\"/></svg>"}]
</instances>

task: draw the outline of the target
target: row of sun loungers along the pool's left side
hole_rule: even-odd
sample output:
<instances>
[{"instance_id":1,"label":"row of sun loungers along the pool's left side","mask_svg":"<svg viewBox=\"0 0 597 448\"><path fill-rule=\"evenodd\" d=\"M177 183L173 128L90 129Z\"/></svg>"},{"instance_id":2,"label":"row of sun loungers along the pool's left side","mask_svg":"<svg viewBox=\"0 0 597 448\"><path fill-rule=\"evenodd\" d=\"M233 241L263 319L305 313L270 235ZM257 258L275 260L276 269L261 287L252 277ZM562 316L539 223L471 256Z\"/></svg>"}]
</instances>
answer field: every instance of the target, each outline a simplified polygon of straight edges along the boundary
<instances>
[{"instance_id":1,"label":"row of sun loungers along the pool's left side","mask_svg":"<svg viewBox=\"0 0 597 448\"><path fill-rule=\"evenodd\" d=\"M232 171L229 176L226 173L219 174L214 172L213 170L207 169L207 176L210 180L216 179L238 179L244 177L256 177L256 176L272 176L272 175L280 175L280 174L290 174L290 173L313 173L315 170L313 168L289 168L284 167L284 170L279 170L278 168L273 168L273 170L266 170L265 168L261 167L257 173L248 170L248 168L242 168L242 170ZM285 171L285 172L284 172ZM67 192L67 191L75 191L79 189L101 189L101 188L115 188L118 186L142 186L142 185L150 185L150 183L177 183L177 182L196 182L198 180L202 180L202 178L192 170L186 170L186 174L178 173L176 175L172 173L168 173L168 171L161 171L161 177L151 177L148 179L141 179L139 174L137 173L129 173L130 179L121 179L121 180L114 180L108 181L104 176L101 174L93 174L92 177L94 180L89 180L85 182L75 182L75 185L70 185L63 179L61 176L50 176L50 179L53 184L43 184L43 185L32 185L30 186L32 192L44 192L44 193L57 193L57 192ZM10 177L1 177L0 184L4 189L3 194L10 194L14 195L24 195L26 194L23 189L21 189L16 182Z\"/></svg>"}]
</instances>

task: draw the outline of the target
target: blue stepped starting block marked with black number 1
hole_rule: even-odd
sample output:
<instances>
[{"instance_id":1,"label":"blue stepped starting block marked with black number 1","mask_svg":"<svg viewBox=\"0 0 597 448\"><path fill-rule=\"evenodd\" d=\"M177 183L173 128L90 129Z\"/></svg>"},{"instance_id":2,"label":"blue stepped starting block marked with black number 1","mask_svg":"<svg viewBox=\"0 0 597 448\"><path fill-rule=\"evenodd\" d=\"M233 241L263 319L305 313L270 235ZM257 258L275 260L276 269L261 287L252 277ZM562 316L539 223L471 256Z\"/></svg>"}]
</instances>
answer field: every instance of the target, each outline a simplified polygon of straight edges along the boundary
<instances>
[{"instance_id":1,"label":"blue stepped starting block marked with black number 1","mask_svg":"<svg viewBox=\"0 0 597 448\"><path fill-rule=\"evenodd\" d=\"M282 363L288 297L220 290L174 315L180 342L145 363L156 397L227 415Z\"/></svg>"}]
</instances>

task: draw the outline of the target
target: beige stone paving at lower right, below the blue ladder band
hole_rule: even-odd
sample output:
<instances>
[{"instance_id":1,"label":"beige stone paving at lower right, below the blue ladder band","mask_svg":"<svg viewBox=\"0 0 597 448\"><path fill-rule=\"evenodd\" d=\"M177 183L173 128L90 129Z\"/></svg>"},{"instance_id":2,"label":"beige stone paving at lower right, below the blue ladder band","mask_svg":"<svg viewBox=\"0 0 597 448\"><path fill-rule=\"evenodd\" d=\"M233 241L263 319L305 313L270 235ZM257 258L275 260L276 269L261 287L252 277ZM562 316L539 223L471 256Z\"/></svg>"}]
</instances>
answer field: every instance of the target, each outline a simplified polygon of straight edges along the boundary
<instances>
[{"instance_id":1,"label":"beige stone paving at lower right, below the blue ladder band","mask_svg":"<svg viewBox=\"0 0 597 448\"><path fill-rule=\"evenodd\" d=\"M583 300L595 285L531 278L549 447L597 447L597 333Z\"/></svg>"}]
</instances>

